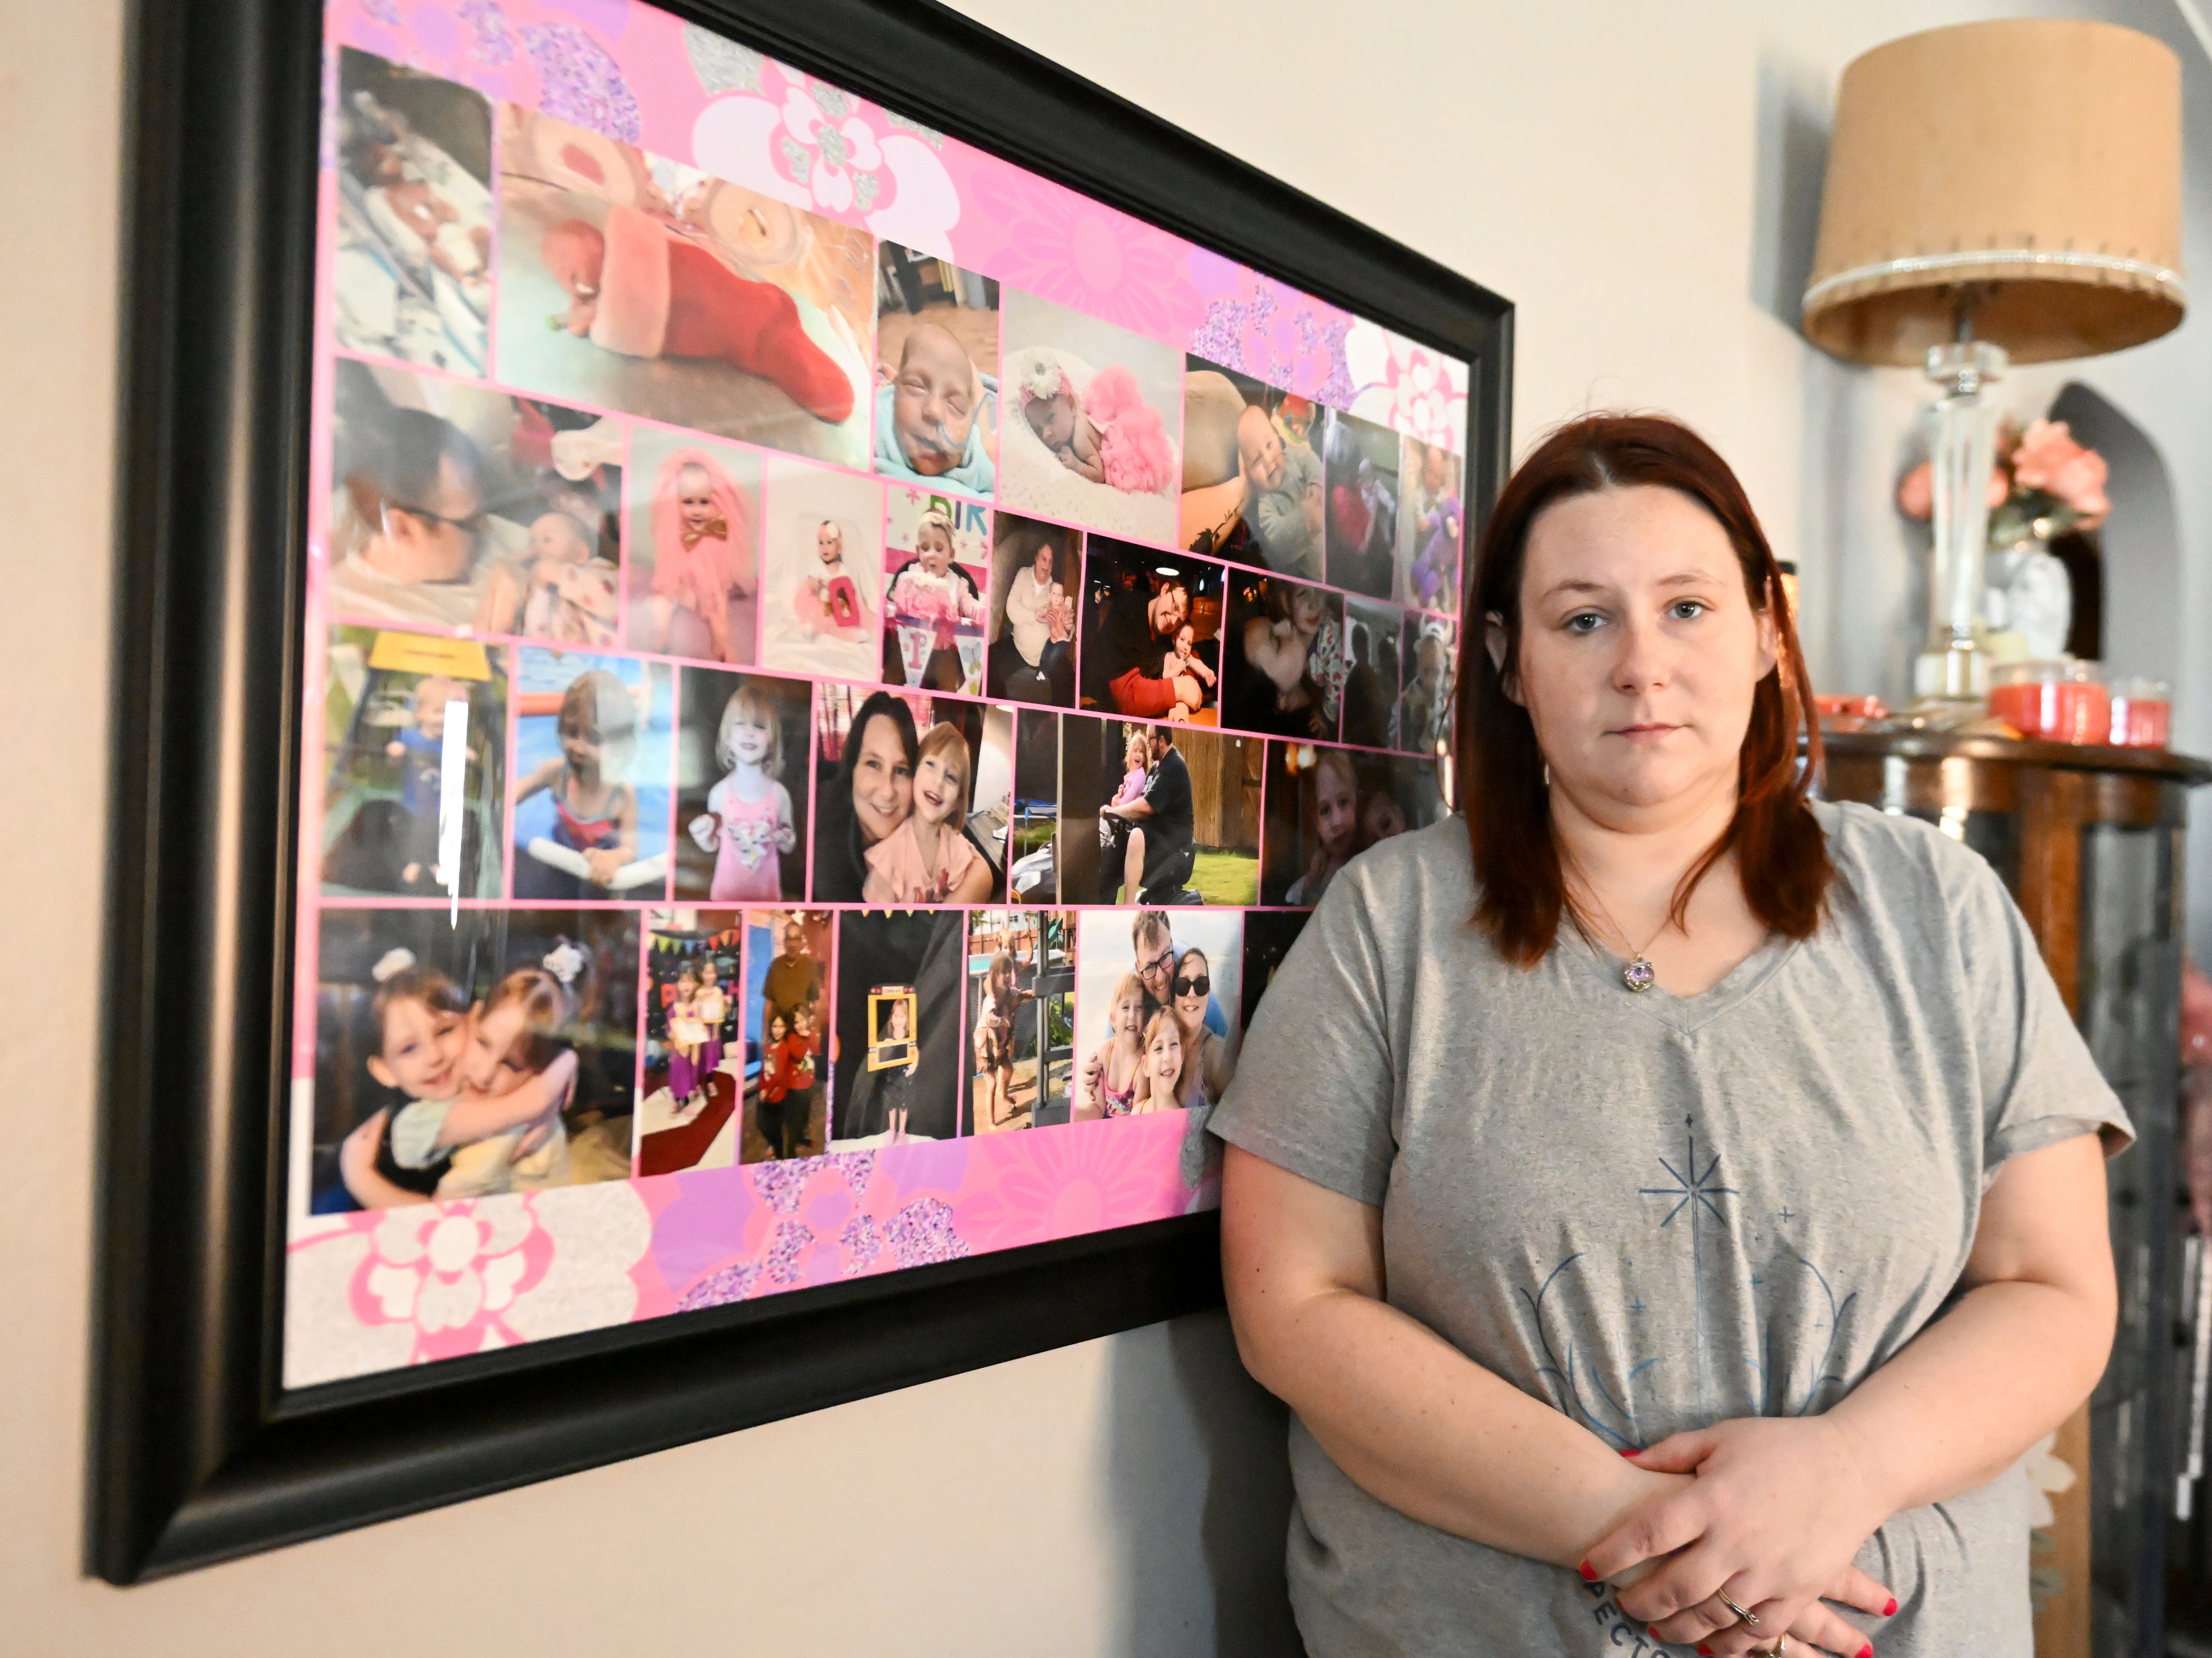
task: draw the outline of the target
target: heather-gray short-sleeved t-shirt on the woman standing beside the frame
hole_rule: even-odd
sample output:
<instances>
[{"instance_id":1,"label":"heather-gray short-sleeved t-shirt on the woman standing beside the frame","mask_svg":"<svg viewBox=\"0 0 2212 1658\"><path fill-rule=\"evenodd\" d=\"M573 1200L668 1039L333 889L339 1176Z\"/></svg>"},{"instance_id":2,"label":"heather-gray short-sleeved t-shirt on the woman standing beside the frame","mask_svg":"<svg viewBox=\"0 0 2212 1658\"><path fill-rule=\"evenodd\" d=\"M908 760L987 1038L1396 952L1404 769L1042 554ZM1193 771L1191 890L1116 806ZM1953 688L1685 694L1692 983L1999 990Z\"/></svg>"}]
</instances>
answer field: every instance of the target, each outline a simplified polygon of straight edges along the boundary
<instances>
[{"instance_id":1,"label":"heather-gray short-sleeved t-shirt on the woman standing beside the frame","mask_svg":"<svg viewBox=\"0 0 2212 1658\"><path fill-rule=\"evenodd\" d=\"M1694 997L1630 995L1573 928L1511 968L1469 926L1464 822L1383 842L1276 970L1214 1132L1380 1205L1391 1307L1608 1446L1827 1410L1942 1309L2000 1163L2130 1130L1989 864L1814 811L1832 917ZM1376 1501L1296 1417L1290 1461L1314 1654L1674 1651L1604 1585ZM1865 1620L1882 1658L2031 1651L2017 1468L1858 1563L1900 1603Z\"/></svg>"}]
</instances>

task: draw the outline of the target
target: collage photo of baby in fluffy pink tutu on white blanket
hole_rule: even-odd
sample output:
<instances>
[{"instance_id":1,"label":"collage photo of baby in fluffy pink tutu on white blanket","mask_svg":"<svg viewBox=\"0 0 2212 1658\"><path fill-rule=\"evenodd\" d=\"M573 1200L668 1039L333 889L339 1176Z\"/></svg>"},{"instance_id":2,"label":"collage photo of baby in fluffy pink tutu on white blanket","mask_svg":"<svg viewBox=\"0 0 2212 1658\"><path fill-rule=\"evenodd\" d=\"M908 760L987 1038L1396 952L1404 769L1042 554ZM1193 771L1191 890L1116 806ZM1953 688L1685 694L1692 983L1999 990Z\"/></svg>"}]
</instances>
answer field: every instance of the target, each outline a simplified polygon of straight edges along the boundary
<instances>
[{"instance_id":1,"label":"collage photo of baby in fluffy pink tutu on white blanket","mask_svg":"<svg viewBox=\"0 0 2212 1658\"><path fill-rule=\"evenodd\" d=\"M1018 290L1004 312L1000 506L1172 546L1181 354Z\"/></svg>"}]
</instances>

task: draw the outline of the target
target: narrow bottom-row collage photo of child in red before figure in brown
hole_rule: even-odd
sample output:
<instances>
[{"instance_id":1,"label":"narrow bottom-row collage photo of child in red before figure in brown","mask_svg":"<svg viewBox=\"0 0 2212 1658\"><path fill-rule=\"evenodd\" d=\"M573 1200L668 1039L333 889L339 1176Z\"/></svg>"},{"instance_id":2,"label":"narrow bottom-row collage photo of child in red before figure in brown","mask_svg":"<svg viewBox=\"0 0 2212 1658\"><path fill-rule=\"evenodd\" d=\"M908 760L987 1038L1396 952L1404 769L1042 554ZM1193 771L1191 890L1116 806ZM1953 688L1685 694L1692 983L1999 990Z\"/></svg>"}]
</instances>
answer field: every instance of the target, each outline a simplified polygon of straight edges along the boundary
<instances>
[{"instance_id":1,"label":"narrow bottom-row collage photo of child in red before figure in brown","mask_svg":"<svg viewBox=\"0 0 2212 1658\"><path fill-rule=\"evenodd\" d=\"M834 951L836 924L825 909L745 911L741 1163L814 1156L830 1143Z\"/></svg>"}]
</instances>

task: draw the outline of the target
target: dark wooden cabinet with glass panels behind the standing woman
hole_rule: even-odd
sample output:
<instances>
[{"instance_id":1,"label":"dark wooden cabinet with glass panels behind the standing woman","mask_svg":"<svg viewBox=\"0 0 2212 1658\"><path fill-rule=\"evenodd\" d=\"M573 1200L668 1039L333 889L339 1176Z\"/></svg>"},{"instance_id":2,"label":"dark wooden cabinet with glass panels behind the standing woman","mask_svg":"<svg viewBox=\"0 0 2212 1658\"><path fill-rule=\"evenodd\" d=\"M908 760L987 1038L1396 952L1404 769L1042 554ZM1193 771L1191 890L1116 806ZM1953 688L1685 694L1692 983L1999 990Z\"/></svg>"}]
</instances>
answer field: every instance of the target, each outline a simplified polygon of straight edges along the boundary
<instances>
[{"instance_id":1,"label":"dark wooden cabinet with glass panels behind the standing woman","mask_svg":"<svg viewBox=\"0 0 2212 1658\"><path fill-rule=\"evenodd\" d=\"M1989 858L2135 1119L2135 1150L2106 1165L2119 1337L2048 1452L2073 1483L2046 1490L2051 1525L2031 1536L2037 1658L2166 1656L2197 1307L2183 1280L2201 1271L2179 1147L2181 873L2188 791L2208 780L2212 765L2161 749L1827 736L1832 800L1924 818ZM2039 1488L2064 1479L2046 1459L2031 1470Z\"/></svg>"}]
</instances>

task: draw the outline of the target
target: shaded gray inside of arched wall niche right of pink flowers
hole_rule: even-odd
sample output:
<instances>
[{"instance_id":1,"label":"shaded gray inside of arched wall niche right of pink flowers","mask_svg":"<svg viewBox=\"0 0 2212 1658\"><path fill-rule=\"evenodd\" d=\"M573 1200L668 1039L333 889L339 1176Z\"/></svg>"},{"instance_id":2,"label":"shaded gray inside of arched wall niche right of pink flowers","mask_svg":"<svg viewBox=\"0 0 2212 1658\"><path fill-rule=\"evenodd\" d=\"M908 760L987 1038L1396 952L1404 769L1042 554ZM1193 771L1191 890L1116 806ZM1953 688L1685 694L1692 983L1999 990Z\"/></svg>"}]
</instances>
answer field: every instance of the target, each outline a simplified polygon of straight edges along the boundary
<instances>
[{"instance_id":1,"label":"shaded gray inside of arched wall niche right of pink flowers","mask_svg":"<svg viewBox=\"0 0 2212 1658\"><path fill-rule=\"evenodd\" d=\"M2181 679L2181 522L2166 458L2150 436L2079 380L2051 405L2075 442L2112 469L2112 515L2097 531L2104 559L2104 663L2115 674Z\"/></svg>"}]
</instances>

